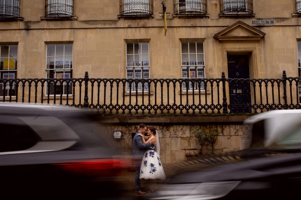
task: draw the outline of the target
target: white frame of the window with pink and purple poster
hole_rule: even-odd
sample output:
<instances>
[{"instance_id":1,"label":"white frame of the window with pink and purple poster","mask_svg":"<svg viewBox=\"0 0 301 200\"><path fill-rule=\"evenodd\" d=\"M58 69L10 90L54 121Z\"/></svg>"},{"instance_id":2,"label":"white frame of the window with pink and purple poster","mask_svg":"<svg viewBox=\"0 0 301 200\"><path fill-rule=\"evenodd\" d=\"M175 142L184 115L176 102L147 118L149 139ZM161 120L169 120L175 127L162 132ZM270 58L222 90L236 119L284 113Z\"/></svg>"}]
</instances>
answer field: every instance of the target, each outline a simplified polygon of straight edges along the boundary
<instances>
[{"instance_id":1,"label":"white frame of the window with pink and purple poster","mask_svg":"<svg viewBox=\"0 0 301 200\"><path fill-rule=\"evenodd\" d=\"M47 48L48 45L54 45L54 56L48 56L48 48ZM56 49L57 49L56 46L57 45L64 45L63 56L56 56ZM70 55L65 55L65 46L66 45L72 45L72 54L71 54L71 56ZM70 57L72 57L71 60L70 59L65 59L65 58L70 58ZM54 69L48 69L47 68L47 58L54 58ZM63 68L62 69L61 68L60 69L55 69L57 58L63 58ZM67 66L67 64L69 64L70 68L65 68ZM72 74L73 73L73 43L46 44L45 68L46 68L46 74L45 74L46 79L48 77L48 73L51 73L51 71L53 71L53 73L54 73L54 78L53 79L60 79L60 78L72 79L72 77L73 77L73 74ZM58 76L56 76L56 75L58 75ZM59 77L59 75L63 75L63 77ZM72 95L72 92L73 92L72 83L70 82L70 84L69 84L70 85L69 86L69 93L70 94L66 94L67 89L65 91L65 85L67 85L67 83L64 82L63 84L64 84L64 86L63 86L63 94L62 95L63 96ZM54 86L50 86L50 87L54 87ZM60 87L59 83L57 83L57 87ZM48 88L48 86L46 85L45 95L48 95L47 88ZM54 93L55 93L55 91L54 91ZM58 95L61 95L61 94L56 94L56 96L58 96ZM54 94L50 94L50 96L54 96Z\"/></svg>"}]
</instances>

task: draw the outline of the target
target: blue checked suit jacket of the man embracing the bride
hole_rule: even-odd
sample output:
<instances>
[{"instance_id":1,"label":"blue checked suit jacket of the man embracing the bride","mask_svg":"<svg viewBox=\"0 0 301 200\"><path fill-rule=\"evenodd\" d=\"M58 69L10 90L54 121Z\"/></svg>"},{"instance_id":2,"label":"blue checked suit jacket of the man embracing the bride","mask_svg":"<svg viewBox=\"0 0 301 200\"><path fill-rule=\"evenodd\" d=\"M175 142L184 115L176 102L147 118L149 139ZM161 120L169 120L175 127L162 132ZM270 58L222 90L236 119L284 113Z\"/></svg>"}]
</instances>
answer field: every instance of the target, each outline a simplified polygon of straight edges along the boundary
<instances>
[{"instance_id":1,"label":"blue checked suit jacket of the man embracing the bride","mask_svg":"<svg viewBox=\"0 0 301 200\"><path fill-rule=\"evenodd\" d=\"M150 147L151 144L149 142L144 143L142 142L141 136L137 134L140 133L139 131L135 134L132 143L132 159L133 160L142 160L144 152L147 147Z\"/></svg>"}]
</instances>

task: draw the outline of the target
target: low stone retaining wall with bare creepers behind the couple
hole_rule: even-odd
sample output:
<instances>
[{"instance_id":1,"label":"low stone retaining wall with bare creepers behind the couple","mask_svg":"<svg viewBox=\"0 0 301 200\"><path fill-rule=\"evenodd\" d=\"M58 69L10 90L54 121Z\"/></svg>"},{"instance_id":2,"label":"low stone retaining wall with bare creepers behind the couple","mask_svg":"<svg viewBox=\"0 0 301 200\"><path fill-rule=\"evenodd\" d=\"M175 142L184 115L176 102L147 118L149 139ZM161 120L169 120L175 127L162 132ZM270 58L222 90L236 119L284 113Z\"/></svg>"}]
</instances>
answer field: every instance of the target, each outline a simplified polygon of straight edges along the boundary
<instances>
[{"instance_id":1,"label":"low stone retaining wall with bare creepers behind the couple","mask_svg":"<svg viewBox=\"0 0 301 200\"><path fill-rule=\"evenodd\" d=\"M127 116L124 116L124 119L126 119L126 117ZM228 117L229 116L224 116L224 118ZM166 118L167 117L161 117L161 120L166 121ZM129 120L129 117L128 121L131 121ZM132 152L132 134L136 133L137 125L139 123L145 123L147 126L156 127L161 146L160 160L162 163L166 164L183 162L186 160L187 153L194 154L200 150L200 145L197 142L196 137L194 137L194 131L200 128L205 128L208 131L217 130L219 132L218 139L214 145L215 154L222 154L247 148L248 144L245 141L250 139L248 127L242 124L241 121L231 123L220 121L219 124L214 121L206 122L205 124L189 124L188 122L185 124L185 122L183 122L176 124L164 123L163 125L158 123L152 124L149 123L150 121L156 122L153 118L148 118L148 120L144 119L136 124L129 123L130 125L126 125L127 123L124 122L113 124L104 123L104 127L106 130L105 132L110 137L113 137L113 132L115 130L120 130L123 133L122 138L115 142L116 145L121 147L122 151L126 152L128 155L131 155ZM203 154L211 154L211 145L203 147Z\"/></svg>"}]
</instances>

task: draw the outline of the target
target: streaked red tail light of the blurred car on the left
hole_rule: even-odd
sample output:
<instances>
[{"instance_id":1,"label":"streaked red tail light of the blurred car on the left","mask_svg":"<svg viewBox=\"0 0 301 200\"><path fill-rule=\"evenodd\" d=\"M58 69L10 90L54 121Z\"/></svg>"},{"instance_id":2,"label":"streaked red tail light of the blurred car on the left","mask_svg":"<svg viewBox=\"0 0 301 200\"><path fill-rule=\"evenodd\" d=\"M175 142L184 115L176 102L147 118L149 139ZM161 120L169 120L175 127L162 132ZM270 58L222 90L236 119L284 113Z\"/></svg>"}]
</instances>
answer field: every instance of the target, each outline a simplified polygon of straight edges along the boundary
<instances>
[{"instance_id":1,"label":"streaked red tail light of the blurred car on the left","mask_svg":"<svg viewBox=\"0 0 301 200\"><path fill-rule=\"evenodd\" d=\"M53 164L78 175L116 176L129 166L129 160L97 159Z\"/></svg>"}]
</instances>

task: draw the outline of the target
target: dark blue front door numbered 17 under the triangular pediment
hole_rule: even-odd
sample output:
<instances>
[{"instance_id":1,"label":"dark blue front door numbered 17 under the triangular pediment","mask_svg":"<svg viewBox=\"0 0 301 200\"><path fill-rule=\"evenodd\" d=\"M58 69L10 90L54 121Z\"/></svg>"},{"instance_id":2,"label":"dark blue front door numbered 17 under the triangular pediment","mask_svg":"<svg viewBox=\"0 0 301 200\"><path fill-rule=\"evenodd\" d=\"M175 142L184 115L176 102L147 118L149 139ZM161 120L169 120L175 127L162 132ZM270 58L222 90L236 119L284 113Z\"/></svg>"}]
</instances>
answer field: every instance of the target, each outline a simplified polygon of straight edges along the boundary
<instances>
[{"instance_id":1,"label":"dark blue front door numbered 17 under the triangular pediment","mask_svg":"<svg viewBox=\"0 0 301 200\"><path fill-rule=\"evenodd\" d=\"M250 112L246 106L251 103L250 85L241 79L250 79L248 55L228 55L228 77L231 80L230 104L232 112ZM240 80L238 80L240 79Z\"/></svg>"}]
</instances>

